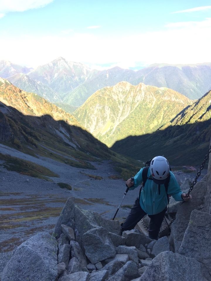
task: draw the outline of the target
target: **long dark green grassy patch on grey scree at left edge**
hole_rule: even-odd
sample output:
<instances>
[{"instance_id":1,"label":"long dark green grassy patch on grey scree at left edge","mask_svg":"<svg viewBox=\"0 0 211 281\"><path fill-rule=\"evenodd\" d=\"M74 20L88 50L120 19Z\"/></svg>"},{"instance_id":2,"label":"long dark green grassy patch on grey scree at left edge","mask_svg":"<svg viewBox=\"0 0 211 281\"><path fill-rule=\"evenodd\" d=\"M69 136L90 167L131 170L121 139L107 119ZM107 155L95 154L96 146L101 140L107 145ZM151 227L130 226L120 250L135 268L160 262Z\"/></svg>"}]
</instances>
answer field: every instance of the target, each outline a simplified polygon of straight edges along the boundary
<instances>
[{"instance_id":1,"label":"long dark green grassy patch on grey scree at left edge","mask_svg":"<svg viewBox=\"0 0 211 281\"><path fill-rule=\"evenodd\" d=\"M1 165L4 166L4 168L6 168L8 171L15 171L30 177L46 179L47 181L49 181L47 177L59 178L59 175L50 171L49 169L27 160L19 159L2 153L0 153L0 159L5 161Z\"/></svg>"}]
</instances>

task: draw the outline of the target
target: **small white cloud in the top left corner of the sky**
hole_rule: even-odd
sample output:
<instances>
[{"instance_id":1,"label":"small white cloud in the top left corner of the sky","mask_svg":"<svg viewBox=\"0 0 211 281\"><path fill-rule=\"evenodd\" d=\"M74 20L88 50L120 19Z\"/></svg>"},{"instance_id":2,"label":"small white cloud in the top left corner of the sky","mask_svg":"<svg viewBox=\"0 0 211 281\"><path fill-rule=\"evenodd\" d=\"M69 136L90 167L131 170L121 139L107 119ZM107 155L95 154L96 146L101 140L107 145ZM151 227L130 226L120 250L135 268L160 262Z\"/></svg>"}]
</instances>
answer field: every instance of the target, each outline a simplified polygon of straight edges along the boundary
<instances>
[{"instance_id":1,"label":"small white cloud in the top left corner of the sky","mask_svg":"<svg viewBox=\"0 0 211 281\"><path fill-rule=\"evenodd\" d=\"M54 0L0 0L0 12L2 16L8 12L23 12L44 7L52 1Z\"/></svg>"}]
</instances>

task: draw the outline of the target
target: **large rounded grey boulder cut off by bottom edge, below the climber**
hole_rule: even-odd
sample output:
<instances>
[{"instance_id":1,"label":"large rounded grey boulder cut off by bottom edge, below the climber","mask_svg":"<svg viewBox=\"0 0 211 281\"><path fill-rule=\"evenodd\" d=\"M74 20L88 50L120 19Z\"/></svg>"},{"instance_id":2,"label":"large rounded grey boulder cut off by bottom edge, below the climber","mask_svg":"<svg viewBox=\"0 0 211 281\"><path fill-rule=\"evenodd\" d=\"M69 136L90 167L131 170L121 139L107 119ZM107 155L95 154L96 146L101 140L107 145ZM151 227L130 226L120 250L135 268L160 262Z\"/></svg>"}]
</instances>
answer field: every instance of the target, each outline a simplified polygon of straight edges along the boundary
<instances>
[{"instance_id":1,"label":"large rounded grey boulder cut off by bottom edge, below the climber","mask_svg":"<svg viewBox=\"0 0 211 281\"><path fill-rule=\"evenodd\" d=\"M140 281L203 281L200 263L194 258L170 251L157 255L144 271Z\"/></svg>"}]
</instances>

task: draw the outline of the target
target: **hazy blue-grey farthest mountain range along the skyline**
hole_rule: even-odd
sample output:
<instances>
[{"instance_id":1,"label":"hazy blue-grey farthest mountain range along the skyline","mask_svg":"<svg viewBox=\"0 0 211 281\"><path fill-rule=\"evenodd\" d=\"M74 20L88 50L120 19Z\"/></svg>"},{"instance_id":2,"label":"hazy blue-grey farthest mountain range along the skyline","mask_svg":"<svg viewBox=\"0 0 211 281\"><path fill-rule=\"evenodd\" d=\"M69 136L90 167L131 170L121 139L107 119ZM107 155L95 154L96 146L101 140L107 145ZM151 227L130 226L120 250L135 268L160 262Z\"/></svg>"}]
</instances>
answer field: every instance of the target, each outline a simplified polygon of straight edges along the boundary
<instances>
[{"instance_id":1,"label":"hazy blue-grey farthest mountain range along the skyline","mask_svg":"<svg viewBox=\"0 0 211 281\"><path fill-rule=\"evenodd\" d=\"M0 75L1 73L2 77L13 81L14 85L25 91L35 92L51 102L77 107L81 106L97 90L114 86L121 81L129 82L132 85L144 83L159 88L170 88L191 100L202 97L211 89L211 63L153 64L139 71L120 67L98 71L91 70L84 64L59 57L31 71L29 68L1 61ZM30 79L27 76L25 76L25 80L22 76L14 78L14 74L17 73L27 74ZM38 81L51 89L45 88ZM58 97L58 100L55 97Z\"/></svg>"}]
</instances>

